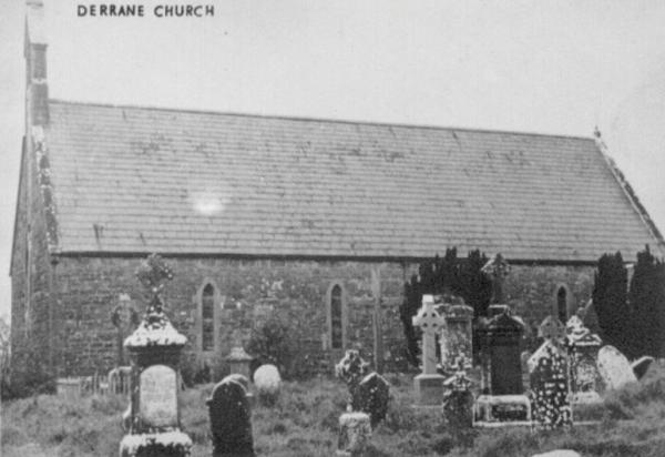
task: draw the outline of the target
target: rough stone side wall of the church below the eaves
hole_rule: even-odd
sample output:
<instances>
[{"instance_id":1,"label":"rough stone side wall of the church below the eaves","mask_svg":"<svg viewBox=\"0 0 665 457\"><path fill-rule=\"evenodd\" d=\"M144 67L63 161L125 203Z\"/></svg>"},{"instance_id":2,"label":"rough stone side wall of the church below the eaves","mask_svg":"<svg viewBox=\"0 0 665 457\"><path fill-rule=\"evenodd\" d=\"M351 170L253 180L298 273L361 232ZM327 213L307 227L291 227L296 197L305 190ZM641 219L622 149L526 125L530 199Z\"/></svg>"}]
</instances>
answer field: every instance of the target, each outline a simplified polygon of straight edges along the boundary
<instances>
[{"instance_id":1,"label":"rough stone side wall of the church below the eaves","mask_svg":"<svg viewBox=\"0 0 665 457\"><path fill-rule=\"evenodd\" d=\"M345 291L348 327L346 347L359 347L372 359L371 270L380 266L381 309L386 369L406 369L403 336L399 319L403 282L417 265L370 262L173 258L166 257L175 277L164 297L174 325L190 338L186 357L207 362L217 373L238 342L246 345L255 319L273 309L297 324L299 346L307 352L305 370L325 372L338 356L327 342L329 287L339 283ZM62 257L55 283L62 342L60 376L105 373L114 366L117 332L111 313L120 294L132 298L136 311L144 307L143 291L134 276L137 257ZM526 346L535 344L534 328L555 311L557 286L571 292L571 308L585 303L593 285L591 266L513 266L507 282L509 304L528 324ZM198 296L205 283L217 290L216 351L202 353L198 336Z\"/></svg>"}]
</instances>

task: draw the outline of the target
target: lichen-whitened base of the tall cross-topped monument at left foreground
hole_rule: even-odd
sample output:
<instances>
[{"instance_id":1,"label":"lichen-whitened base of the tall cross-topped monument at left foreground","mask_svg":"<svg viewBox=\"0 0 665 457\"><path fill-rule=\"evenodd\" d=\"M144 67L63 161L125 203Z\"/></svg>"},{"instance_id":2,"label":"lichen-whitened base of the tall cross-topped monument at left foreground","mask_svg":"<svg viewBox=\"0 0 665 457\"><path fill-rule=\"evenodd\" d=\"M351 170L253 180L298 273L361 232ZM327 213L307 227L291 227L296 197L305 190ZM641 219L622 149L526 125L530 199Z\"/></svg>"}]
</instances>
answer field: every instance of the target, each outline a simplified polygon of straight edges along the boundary
<instances>
[{"instance_id":1,"label":"lichen-whitened base of the tall cross-topped monument at left foreground","mask_svg":"<svg viewBox=\"0 0 665 457\"><path fill-rule=\"evenodd\" d=\"M120 457L187 457L192 439L182 431L125 435L120 441Z\"/></svg>"}]
</instances>

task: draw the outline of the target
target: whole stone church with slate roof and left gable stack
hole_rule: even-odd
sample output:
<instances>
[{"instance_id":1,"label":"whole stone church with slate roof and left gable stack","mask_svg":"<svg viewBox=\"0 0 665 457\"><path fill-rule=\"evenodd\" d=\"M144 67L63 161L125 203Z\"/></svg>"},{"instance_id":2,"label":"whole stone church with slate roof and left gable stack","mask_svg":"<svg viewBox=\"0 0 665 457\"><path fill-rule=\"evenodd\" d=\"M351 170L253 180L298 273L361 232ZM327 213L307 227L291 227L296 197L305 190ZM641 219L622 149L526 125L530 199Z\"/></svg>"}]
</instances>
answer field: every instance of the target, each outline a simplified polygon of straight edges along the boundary
<instances>
[{"instance_id":1,"label":"whole stone church with slate roof and left gable stack","mask_svg":"<svg viewBox=\"0 0 665 457\"><path fill-rule=\"evenodd\" d=\"M12 351L55 376L114 366L112 316L143 311L151 253L198 363L278 314L309 369L379 347L390 370L403 284L447 247L501 253L529 328L589 301L602 254L665 252L597 138L53 100L41 2L28 9Z\"/></svg>"}]
</instances>

